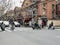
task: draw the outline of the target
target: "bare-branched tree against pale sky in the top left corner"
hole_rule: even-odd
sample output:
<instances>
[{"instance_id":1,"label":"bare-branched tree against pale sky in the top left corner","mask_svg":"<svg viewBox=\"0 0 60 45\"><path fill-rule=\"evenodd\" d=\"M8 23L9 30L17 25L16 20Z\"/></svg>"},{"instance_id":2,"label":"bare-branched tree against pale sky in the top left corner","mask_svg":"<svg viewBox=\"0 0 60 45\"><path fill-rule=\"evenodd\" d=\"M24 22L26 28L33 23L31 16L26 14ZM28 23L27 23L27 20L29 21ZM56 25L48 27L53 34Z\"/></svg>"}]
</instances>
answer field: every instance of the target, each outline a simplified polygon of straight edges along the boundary
<instances>
[{"instance_id":1,"label":"bare-branched tree against pale sky in the top left corner","mask_svg":"<svg viewBox=\"0 0 60 45\"><path fill-rule=\"evenodd\" d=\"M10 0L0 0L0 7L1 7L0 17L3 16L7 10L10 9L11 5L12 4L11 4Z\"/></svg>"}]
</instances>

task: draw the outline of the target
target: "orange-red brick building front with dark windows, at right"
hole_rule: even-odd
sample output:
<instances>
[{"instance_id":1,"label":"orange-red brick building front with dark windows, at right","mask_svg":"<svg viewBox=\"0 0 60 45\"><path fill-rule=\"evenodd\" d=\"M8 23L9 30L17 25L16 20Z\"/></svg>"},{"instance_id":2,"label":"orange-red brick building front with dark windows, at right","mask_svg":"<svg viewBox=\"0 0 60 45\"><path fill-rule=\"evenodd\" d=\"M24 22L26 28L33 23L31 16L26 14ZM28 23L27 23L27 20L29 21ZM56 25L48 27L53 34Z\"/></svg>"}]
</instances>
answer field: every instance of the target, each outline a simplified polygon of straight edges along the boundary
<instances>
[{"instance_id":1,"label":"orange-red brick building front with dark windows, at right","mask_svg":"<svg viewBox=\"0 0 60 45\"><path fill-rule=\"evenodd\" d=\"M47 17L48 19L56 18L56 1L55 0L41 0L38 4L38 16Z\"/></svg>"}]
</instances>

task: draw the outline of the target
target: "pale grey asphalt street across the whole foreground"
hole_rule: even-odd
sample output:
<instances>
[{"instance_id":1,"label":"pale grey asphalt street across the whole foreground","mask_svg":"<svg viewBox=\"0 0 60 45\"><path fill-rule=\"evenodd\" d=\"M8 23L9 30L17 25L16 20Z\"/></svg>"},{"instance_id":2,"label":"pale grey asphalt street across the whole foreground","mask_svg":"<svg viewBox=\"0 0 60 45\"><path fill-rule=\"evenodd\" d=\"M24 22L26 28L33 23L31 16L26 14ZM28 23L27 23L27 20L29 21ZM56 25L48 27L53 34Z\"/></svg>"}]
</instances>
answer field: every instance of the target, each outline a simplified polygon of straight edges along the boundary
<instances>
[{"instance_id":1,"label":"pale grey asphalt street across the whole foreground","mask_svg":"<svg viewBox=\"0 0 60 45\"><path fill-rule=\"evenodd\" d=\"M28 27L6 28L0 32L0 45L60 45L60 29L33 30Z\"/></svg>"}]
</instances>

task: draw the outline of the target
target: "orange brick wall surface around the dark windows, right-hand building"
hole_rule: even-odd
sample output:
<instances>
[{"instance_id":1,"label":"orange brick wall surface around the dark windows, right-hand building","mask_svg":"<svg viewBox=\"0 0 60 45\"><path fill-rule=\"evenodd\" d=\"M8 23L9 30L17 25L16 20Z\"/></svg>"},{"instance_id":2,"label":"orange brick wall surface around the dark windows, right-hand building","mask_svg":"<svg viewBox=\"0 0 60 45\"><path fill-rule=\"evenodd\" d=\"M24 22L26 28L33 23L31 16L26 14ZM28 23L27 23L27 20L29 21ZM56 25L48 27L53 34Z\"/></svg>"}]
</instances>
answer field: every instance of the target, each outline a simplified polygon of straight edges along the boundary
<instances>
[{"instance_id":1,"label":"orange brick wall surface around the dark windows, right-hand building","mask_svg":"<svg viewBox=\"0 0 60 45\"><path fill-rule=\"evenodd\" d=\"M38 15L43 15L43 3L39 3L38 4ZM54 8L55 8L55 11L56 11L56 1L47 1L45 2L46 3L46 16L48 19L52 19L52 4L54 4ZM56 17L56 13L54 13L54 17Z\"/></svg>"}]
</instances>

